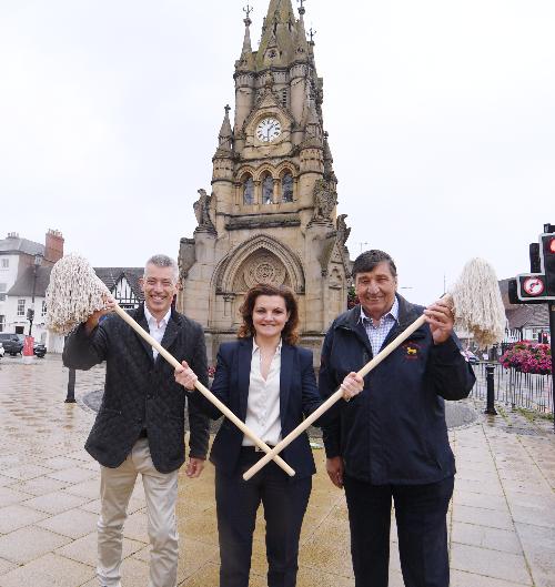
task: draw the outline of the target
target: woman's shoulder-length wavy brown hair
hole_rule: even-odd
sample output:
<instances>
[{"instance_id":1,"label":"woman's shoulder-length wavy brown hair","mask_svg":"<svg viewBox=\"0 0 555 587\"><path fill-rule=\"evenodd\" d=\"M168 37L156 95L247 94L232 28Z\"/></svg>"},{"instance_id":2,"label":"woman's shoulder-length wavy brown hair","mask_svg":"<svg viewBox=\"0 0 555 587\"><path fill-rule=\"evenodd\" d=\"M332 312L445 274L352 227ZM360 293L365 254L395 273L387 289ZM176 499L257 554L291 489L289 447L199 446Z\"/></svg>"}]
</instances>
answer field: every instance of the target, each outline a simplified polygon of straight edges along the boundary
<instances>
[{"instance_id":1,"label":"woman's shoulder-length wavy brown hair","mask_svg":"<svg viewBox=\"0 0 555 587\"><path fill-rule=\"evenodd\" d=\"M287 344L296 344L299 341L299 306L296 304L293 292L286 285L270 285L268 283L259 283L253 285L245 295L244 302L239 308L243 324L238 332L238 338L248 338L254 336L254 324L252 322L252 313L254 311L254 304L259 295L279 295L285 301L285 308L289 312L289 320L283 327L281 333L282 338Z\"/></svg>"}]
</instances>

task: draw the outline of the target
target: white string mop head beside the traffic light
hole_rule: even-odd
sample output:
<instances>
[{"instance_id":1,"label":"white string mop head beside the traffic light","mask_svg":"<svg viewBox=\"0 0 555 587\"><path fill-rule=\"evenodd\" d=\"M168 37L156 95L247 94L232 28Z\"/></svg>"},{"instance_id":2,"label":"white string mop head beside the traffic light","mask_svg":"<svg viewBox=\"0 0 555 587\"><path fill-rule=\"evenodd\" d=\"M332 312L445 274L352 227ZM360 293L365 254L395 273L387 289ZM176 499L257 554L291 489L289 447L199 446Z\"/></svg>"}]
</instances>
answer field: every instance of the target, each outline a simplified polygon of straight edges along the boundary
<instances>
[{"instance_id":1,"label":"white string mop head beside the traffic light","mask_svg":"<svg viewBox=\"0 0 555 587\"><path fill-rule=\"evenodd\" d=\"M505 334L505 307L490 263L483 259L468 261L451 296L456 326L472 333L481 347L501 343Z\"/></svg>"}]
</instances>

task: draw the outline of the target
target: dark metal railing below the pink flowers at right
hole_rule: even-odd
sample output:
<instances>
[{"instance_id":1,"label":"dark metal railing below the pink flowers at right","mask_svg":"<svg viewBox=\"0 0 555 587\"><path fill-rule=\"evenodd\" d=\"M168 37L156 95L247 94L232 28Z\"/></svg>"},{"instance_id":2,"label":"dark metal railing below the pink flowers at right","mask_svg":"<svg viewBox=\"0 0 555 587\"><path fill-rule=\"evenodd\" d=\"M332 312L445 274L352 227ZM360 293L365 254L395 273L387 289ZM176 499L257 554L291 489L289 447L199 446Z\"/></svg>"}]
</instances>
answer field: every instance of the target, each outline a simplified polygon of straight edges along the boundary
<instances>
[{"instance_id":1,"label":"dark metal railing below the pink flowers at right","mask_svg":"<svg viewBox=\"0 0 555 587\"><path fill-rule=\"evenodd\" d=\"M478 363L473 365L476 383L471 397L485 399L487 395L486 365L495 366L495 401L535 409L545 414L553 413L552 375L518 373L513 368L505 370L500 363Z\"/></svg>"}]
</instances>

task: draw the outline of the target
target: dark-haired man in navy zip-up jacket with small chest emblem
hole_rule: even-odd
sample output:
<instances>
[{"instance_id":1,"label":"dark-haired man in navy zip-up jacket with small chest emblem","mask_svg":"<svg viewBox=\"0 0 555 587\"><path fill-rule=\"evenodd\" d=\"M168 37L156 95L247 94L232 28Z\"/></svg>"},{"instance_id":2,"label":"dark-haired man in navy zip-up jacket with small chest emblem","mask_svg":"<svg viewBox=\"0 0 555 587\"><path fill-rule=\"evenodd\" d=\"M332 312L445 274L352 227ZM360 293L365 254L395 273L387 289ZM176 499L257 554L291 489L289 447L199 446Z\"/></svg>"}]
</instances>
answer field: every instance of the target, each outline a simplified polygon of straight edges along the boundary
<instances>
[{"instance_id":1,"label":"dark-haired man in navy zip-up jacket with small chest emblem","mask_svg":"<svg viewBox=\"0 0 555 587\"><path fill-rule=\"evenodd\" d=\"M327 474L345 488L355 585L387 587L393 500L405 587L448 587L446 513L455 462L444 399L466 397L474 374L453 334L450 306L438 301L424 308L398 295L387 253L362 253L353 279L360 303L333 322L322 348L324 398L426 316L324 428Z\"/></svg>"}]
</instances>

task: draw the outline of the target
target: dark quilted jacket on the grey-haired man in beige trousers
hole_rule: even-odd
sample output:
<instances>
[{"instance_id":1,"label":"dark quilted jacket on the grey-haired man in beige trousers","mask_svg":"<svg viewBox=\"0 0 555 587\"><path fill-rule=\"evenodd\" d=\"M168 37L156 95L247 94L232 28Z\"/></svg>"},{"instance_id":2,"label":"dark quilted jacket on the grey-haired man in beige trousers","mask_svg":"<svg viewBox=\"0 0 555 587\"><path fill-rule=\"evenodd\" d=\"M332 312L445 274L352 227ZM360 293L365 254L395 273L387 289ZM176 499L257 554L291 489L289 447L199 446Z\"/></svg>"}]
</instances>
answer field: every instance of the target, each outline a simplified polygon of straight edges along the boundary
<instances>
[{"instance_id":1,"label":"dark quilted jacket on the grey-haired man in beige trousers","mask_svg":"<svg viewBox=\"0 0 555 587\"><path fill-rule=\"evenodd\" d=\"M149 332L142 305L130 315ZM178 361L186 361L208 385L206 348L200 324L172 310L162 346ZM201 414L195 394L185 394L175 383L173 367L160 355L154 362L151 346L115 314L105 317L89 336L80 325L63 351L67 367L89 370L102 361L107 361L104 396L85 444L101 465L121 465L145 428L157 469L178 469L185 459L185 396L190 455L205 458L208 418Z\"/></svg>"}]
</instances>

